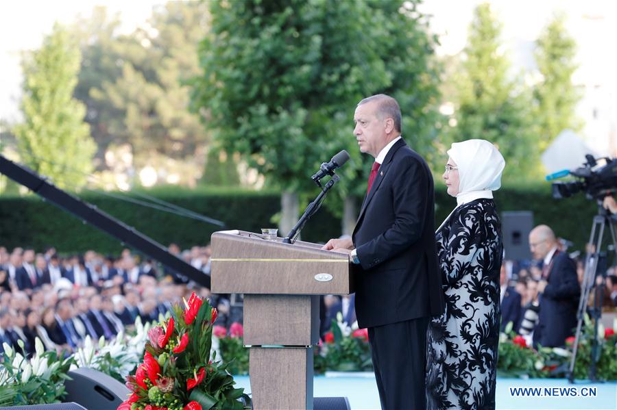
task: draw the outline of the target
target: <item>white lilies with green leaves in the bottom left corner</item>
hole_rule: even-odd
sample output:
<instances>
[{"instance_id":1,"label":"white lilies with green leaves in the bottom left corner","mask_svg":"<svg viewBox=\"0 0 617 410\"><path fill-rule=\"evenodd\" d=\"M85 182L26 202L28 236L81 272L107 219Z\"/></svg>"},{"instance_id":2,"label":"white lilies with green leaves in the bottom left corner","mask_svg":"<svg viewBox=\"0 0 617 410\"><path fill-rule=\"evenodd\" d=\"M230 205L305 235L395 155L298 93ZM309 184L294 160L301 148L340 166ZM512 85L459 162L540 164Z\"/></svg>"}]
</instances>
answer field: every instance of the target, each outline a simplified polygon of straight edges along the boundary
<instances>
[{"instance_id":1,"label":"white lilies with green leaves in the bottom left corner","mask_svg":"<svg viewBox=\"0 0 617 410\"><path fill-rule=\"evenodd\" d=\"M20 340L23 351L24 344ZM26 359L3 344L4 355L0 355L0 406L38 405L60 402L64 397L64 380L73 363L73 357L63 358L55 350L45 351L43 342L36 337L35 353Z\"/></svg>"}]
</instances>

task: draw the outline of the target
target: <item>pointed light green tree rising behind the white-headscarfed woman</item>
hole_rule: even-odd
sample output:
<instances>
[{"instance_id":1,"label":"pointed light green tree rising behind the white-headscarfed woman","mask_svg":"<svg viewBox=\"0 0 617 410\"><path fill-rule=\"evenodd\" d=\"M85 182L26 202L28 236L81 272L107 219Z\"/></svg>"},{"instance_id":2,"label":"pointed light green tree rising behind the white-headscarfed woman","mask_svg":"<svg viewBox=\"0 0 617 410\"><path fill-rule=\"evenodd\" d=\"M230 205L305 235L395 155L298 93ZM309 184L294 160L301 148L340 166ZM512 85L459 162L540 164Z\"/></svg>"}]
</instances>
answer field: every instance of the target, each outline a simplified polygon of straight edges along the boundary
<instances>
[{"instance_id":1,"label":"pointed light green tree rising behind the white-headscarfed woman","mask_svg":"<svg viewBox=\"0 0 617 410\"><path fill-rule=\"evenodd\" d=\"M502 25L488 4L479 5L470 25L455 84L454 142L481 138L496 144L506 160L504 177L536 177L540 162L531 95L500 47Z\"/></svg>"}]
</instances>

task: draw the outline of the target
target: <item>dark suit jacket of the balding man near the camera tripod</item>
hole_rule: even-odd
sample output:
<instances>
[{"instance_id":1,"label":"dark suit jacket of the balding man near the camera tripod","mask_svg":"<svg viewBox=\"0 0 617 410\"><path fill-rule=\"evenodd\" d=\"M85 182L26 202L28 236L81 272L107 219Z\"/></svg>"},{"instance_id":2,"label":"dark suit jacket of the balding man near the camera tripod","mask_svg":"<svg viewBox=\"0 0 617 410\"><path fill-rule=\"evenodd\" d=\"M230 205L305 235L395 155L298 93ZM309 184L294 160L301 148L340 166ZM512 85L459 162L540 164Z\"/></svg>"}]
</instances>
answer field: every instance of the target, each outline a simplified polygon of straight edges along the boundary
<instances>
[{"instance_id":1,"label":"dark suit jacket of the balding man near the camera tripod","mask_svg":"<svg viewBox=\"0 0 617 410\"><path fill-rule=\"evenodd\" d=\"M540 296L540 319L533 332L534 344L564 346L566 337L574 335L581 286L577 266L565 252L553 257L548 285Z\"/></svg>"}]
</instances>

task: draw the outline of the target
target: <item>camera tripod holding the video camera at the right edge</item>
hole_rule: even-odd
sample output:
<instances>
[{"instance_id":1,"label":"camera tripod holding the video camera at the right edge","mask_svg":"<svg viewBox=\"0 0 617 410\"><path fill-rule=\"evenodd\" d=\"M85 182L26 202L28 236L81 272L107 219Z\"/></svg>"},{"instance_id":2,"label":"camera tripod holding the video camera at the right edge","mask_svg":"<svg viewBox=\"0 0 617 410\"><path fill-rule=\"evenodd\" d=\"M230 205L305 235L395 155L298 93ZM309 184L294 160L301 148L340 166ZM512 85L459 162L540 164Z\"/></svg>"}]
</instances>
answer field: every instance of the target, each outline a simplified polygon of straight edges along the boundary
<instances>
[{"instance_id":1,"label":"camera tripod holding the video camera at the right edge","mask_svg":"<svg viewBox=\"0 0 617 410\"><path fill-rule=\"evenodd\" d=\"M601 200L598 200L598 214L594 216L594 220L592 223L592 229L590 234L590 239L588 242L587 254L585 256L585 274L583 276L583 283L581 283L581 298L579 300L579 310L577 313L578 323L577 323L577 333L576 337L574 337L574 347L572 350L572 359L570 359L570 369L568 370L568 381L570 383L574 382L574 365L577 361L577 351L579 350L579 340L581 338L581 329L583 326L583 322L585 319L585 313L587 312L587 306L589 303L589 296L592 291L596 290L596 275L598 271L599 261L606 257L606 253L602 252L602 240L604 236L605 227L609 227L611 238L613 240L613 250L615 255L617 256L617 235L615 230L615 225L611 213L602 207ZM601 272L602 275L602 288L599 290L600 292L595 292L594 294L594 306L590 307L590 316L594 322L594 338L592 340L592 349L591 349L591 367L589 370L589 379L591 381L597 381L596 379L596 363L600 357L600 352L598 351L599 342L598 342L598 321L602 316L602 294L603 287L605 286L606 281L606 272Z\"/></svg>"}]
</instances>

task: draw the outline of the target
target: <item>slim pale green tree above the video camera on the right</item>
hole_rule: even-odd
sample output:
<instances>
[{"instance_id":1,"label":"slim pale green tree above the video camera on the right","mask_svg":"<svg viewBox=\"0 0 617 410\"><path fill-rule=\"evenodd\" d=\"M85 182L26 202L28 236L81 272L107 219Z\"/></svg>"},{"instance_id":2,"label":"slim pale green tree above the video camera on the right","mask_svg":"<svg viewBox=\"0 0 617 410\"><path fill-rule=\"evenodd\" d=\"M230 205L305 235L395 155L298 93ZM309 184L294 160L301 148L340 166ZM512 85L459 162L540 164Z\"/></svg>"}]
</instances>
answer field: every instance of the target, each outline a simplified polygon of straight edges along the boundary
<instances>
[{"instance_id":1,"label":"slim pale green tree above the video camera on the right","mask_svg":"<svg viewBox=\"0 0 617 410\"><path fill-rule=\"evenodd\" d=\"M544 151L564 129L580 131L582 122L576 116L581 92L572 84L576 41L568 34L564 14L556 14L537 39L535 62L542 75L533 90L535 118L538 122L539 148Z\"/></svg>"}]
</instances>

